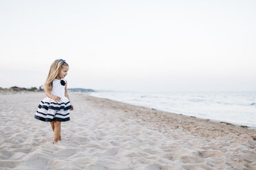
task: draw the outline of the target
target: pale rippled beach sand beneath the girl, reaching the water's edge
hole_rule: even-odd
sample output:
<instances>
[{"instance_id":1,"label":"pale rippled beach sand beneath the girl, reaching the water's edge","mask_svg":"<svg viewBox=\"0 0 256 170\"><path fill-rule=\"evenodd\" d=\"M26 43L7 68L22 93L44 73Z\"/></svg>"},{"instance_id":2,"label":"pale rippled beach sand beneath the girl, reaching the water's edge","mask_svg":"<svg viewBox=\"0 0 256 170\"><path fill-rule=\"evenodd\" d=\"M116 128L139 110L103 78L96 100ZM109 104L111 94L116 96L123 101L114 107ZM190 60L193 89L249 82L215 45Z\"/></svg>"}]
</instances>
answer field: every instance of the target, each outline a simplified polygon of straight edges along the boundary
<instances>
[{"instance_id":1,"label":"pale rippled beach sand beneath the girl, reaching the water's edge","mask_svg":"<svg viewBox=\"0 0 256 170\"><path fill-rule=\"evenodd\" d=\"M255 130L69 95L57 145L34 119L44 93L0 95L0 169L256 169Z\"/></svg>"}]
</instances>

